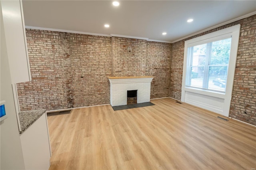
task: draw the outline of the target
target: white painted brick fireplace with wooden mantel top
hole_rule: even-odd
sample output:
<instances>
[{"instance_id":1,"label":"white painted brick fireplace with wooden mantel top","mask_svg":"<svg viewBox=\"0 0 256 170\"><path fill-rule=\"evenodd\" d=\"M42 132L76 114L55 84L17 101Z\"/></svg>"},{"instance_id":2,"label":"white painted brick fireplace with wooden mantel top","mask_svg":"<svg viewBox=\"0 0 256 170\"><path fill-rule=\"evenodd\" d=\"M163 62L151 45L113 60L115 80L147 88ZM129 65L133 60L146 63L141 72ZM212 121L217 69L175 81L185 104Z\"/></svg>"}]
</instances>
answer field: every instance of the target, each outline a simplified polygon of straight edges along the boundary
<instances>
[{"instance_id":1,"label":"white painted brick fireplace with wooden mantel top","mask_svg":"<svg viewBox=\"0 0 256 170\"><path fill-rule=\"evenodd\" d=\"M111 106L127 105L127 91L137 91L137 103L150 102L150 87L154 77L108 77Z\"/></svg>"}]
</instances>

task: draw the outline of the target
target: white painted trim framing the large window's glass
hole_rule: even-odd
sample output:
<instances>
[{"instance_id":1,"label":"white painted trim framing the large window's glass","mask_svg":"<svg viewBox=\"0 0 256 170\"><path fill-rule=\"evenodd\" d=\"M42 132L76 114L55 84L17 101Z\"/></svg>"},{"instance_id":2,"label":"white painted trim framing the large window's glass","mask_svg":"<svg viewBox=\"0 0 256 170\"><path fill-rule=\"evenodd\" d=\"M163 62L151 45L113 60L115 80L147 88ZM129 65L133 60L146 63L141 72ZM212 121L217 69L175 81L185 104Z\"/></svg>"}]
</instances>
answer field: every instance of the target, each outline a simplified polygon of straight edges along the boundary
<instances>
[{"instance_id":1,"label":"white painted trim framing the large window's glass","mask_svg":"<svg viewBox=\"0 0 256 170\"><path fill-rule=\"evenodd\" d=\"M225 36L225 35L232 36L230 59L229 59L229 64L228 64L228 77L227 77L227 82L226 82L226 93L218 93L218 92L207 91L207 90L203 90L203 89L186 87L185 81L186 81L186 69L187 69L186 63L187 63L188 47L194 46L196 44L200 44L203 42L207 42L207 41L209 41L208 39L210 39L210 40L218 39L220 36ZM235 69L236 69L236 56L237 56L237 51L238 51L239 36L240 36L240 24L185 41L183 76L182 76L182 93L181 93L181 101L182 102L185 102L186 91L192 92L192 93L198 93L198 94L202 94L202 95L206 95L206 96L218 97L220 99L224 99L224 108L223 108L222 115L228 117L229 111L230 111L230 101L232 98L234 74L235 74Z\"/></svg>"}]
</instances>

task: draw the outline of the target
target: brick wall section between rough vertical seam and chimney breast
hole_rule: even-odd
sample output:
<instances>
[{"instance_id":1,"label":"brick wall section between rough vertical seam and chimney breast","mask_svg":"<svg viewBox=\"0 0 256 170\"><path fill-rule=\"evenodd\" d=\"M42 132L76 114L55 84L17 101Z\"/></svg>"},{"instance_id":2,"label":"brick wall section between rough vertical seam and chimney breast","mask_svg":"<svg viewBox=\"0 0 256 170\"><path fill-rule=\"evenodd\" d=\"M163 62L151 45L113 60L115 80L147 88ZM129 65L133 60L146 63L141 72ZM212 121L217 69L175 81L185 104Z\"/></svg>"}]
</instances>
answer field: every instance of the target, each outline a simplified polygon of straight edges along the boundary
<instances>
[{"instance_id":1,"label":"brick wall section between rough vertical seam and chimney breast","mask_svg":"<svg viewBox=\"0 0 256 170\"><path fill-rule=\"evenodd\" d=\"M111 38L71 34L74 107L110 103Z\"/></svg>"}]
</instances>

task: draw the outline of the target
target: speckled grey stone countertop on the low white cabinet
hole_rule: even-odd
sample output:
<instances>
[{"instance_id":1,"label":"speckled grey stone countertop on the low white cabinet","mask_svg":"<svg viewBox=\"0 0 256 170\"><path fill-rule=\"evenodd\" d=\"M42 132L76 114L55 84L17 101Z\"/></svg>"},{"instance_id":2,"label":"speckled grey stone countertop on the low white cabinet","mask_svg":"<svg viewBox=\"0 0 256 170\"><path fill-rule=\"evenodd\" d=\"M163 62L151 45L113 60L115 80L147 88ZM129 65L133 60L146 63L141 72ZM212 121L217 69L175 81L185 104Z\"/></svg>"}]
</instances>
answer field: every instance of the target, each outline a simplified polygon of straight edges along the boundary
<instances>
[{"instance_id":1,"label":"speckled grey stone countertop on the low white cabinet","mask_svg":"<svg viewBox=\"0 0 256 170\"><path fill-rule=\"evenodd\" d=\"M20 134L32 125L40 116L46 112L46 109L38 109L32 111L22 111L19 113L20 118Z\"/></svg>"}]
</instances>

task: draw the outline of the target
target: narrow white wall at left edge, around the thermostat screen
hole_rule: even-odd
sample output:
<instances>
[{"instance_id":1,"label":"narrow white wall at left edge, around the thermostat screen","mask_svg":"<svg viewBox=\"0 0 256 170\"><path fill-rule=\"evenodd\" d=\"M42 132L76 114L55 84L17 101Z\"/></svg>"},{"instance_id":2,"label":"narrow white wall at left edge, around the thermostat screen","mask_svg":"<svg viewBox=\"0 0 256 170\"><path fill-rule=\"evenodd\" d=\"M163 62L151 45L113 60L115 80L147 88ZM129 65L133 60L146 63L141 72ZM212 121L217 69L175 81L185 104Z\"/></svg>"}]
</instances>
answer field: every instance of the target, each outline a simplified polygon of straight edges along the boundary
<instances>
[{"instance_id":1,"label":"narrow white wall at left edge, around the thermostat screen","mask_svg":"<svg viewBox=\"0 0 256 170\"><path fill-rule=\"evenodd\" d=\"M1 9L1 8L0 8ZM22 170L25 169L14 98L6 39L4 35L3 18L1 13L1 60L0 60L0 100L5 100L7 119L0 123L0 168L1 170Z\"/></svg>"}]
</instances>

